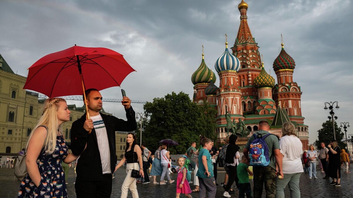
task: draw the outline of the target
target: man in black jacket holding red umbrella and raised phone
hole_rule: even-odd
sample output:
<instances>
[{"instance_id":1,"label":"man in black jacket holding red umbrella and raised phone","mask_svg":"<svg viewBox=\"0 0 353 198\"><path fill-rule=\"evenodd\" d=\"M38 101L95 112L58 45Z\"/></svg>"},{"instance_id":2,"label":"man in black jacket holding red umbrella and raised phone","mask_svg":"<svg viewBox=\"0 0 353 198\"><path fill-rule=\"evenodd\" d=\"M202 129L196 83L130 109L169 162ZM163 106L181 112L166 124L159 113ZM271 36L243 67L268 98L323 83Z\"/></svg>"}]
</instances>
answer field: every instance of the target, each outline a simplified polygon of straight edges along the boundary
<instances>
[{"instance_id":1,"label":"man in black jacket holding red umbrella and raised phone","mask_svg":"<svg viewBox=\"0 0 353 198\"><path fill-rule=\"evenodd\" d=\"M133 131L137 124L131 100L123 97L127 121L100 113L102 95L97 89L85 91L86 113L72 123L71 150L80 155L76 167L76 194L81 197L110 197L112 192L112 173L114 173L115 131ZM89 131L91 130L91 133Z\"/></svg>"}]
</instances>

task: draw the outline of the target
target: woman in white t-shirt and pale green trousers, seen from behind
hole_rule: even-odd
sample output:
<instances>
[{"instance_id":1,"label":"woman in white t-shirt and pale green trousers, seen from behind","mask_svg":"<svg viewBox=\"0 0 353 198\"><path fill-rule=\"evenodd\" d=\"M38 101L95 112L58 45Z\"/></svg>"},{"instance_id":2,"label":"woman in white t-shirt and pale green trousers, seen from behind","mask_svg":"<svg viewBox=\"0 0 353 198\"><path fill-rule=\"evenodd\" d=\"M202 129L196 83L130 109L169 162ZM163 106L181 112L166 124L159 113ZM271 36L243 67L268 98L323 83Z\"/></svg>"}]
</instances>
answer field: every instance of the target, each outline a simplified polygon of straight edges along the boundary
<instances>
[{"instance_id":1,"label":"woman in white t-shirt and pale green trousers, seen from behind","mask_svg":"<svg viewBox=\"0 0 353 198\"><path fill-rule=\"evenodd\" d=\"M285 197L284 189L288 185L291 198L300 198L299 179L303 173L301 165L302 143L295 133L295 126L291 122L282 125L282 138L280 140L283 169L283 179L276 182L276 198ZM277 165L276 165L277 169Z\"/></svg>"}]
</instances>

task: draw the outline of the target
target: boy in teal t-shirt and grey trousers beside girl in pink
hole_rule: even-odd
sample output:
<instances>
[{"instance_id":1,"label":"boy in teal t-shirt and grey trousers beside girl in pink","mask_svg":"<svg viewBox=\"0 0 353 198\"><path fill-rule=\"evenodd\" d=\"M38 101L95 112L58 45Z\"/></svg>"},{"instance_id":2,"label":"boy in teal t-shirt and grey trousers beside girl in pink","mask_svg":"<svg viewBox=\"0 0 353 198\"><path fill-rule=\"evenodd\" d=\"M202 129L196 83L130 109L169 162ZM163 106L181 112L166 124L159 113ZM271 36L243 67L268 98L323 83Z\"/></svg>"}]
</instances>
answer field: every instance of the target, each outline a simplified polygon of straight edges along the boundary
<instances>
[{"instance_id":1,"label":"boy in teal t-shirt and grey trousers beside girl in pink","mask_svg":"<svg viewBox=\"0 0 353 198\"><path fill-rule=\"evenodd\" d=\"M209 138L201 140L202 149L199 151L198 162L199 167L196 176L199 179L199 197L205 198L208 192L209 198L216 196L216 181L213 177L213 163L209 150L212 148L212 141Z\"/></svg>"}]
</instances>

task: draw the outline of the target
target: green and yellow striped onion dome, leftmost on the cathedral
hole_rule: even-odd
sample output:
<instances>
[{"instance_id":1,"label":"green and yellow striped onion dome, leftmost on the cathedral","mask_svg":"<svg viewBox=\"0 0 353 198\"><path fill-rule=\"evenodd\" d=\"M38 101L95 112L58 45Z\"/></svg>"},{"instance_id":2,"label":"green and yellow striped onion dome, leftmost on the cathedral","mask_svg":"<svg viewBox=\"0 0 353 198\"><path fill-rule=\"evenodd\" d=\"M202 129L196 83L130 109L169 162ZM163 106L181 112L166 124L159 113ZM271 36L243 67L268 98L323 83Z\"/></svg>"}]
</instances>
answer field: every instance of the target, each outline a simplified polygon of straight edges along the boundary
<instances>
[{"instance_id":1,"label":"green and yellow striped onion dome, leftmost on the cathedral","mask_svg":"<svg viewBox=\"0 0 353 198\"><path fill-rule=\"evenodd\" d=\"M204 60L204 54L202 54L202 61L200 66L197 68L197 70L192 74L191 76L191 82L196 85L198 83L210 83L211 81L211 76L214 76L212 79L213 82L216 82L216 76L215 73L212 72L210 68L207 67L205 60Z\"/></svg>"}]
</instances>

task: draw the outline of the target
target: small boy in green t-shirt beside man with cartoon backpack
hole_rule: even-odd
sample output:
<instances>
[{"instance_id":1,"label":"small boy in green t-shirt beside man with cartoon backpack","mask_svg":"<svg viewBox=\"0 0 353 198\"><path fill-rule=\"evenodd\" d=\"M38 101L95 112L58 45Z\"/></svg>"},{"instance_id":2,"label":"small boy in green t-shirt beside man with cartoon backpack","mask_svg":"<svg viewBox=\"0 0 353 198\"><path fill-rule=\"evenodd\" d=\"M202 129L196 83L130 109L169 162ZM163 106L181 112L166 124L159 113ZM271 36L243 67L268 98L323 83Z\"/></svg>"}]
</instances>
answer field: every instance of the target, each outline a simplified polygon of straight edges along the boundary
<instances>
[{"instance_id":1,"label":"small boy in green t-shirt beside man with cartoon backpack","mask_svg":"<svg viewBox=\"0 0 353 198\"><path fill-rule=\"evenodd\" d=\"M239 198L245 198L244 193L247 198L252 198L251 186L249 182L249 175L252 176L252 171L250 171L249 166L247 166L247 159L245 155L241 156L241 161L237 166L237 175L239 179Z\"/></svg>"}]
</instances>

